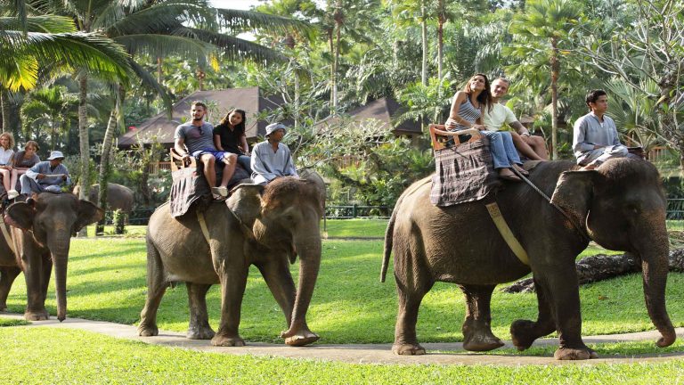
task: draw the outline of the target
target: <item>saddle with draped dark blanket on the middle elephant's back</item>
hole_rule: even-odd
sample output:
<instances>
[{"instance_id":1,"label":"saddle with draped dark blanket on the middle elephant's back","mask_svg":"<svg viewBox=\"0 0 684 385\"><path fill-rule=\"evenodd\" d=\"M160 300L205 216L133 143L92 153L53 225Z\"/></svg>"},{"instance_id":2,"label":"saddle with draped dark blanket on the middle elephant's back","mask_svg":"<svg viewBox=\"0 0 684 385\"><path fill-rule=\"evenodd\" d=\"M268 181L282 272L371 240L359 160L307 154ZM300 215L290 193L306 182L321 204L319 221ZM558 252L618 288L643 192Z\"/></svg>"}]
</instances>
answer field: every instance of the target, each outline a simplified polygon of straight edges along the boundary
<instances>
[{"instance_id":1,"label":"saddle with draped dark blanket on the middle elephant's back","mask_svg":"<svg viewBox=\"0 0 684 385\"><path fill-rule=\"evenodd\" d=\"M170 149L170 158L171 178L173 180L169 194L171 216L181 217L193 206L197 206L199 211L206 210L213 198L207 178L204 176L202 162L192 157L190 160L183 160L183 157L178 155L174 148ZM218 164L216 166L216 173L220 174L222 168ZM228 186L231 187L247 178L249 178L248 172L238 164Z\"/></svg>"}]
</instances>

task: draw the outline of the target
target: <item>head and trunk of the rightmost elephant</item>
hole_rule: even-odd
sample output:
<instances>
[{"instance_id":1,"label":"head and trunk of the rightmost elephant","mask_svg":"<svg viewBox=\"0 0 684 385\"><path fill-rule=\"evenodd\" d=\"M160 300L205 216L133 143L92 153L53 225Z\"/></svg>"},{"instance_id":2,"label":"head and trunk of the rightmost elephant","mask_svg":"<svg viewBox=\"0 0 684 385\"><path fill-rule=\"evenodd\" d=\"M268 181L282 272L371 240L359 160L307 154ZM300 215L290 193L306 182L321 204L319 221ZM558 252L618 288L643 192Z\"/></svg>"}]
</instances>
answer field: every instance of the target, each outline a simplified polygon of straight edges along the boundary
<instances>
[{"instance_id":1,"label":"head and trunk of the rightmost elephant","mask_svg":"<svg viewBox=\"0 0 684 385\"><path fill-rule=\"evenodd\" d=\"M551 202L584 225L601 246L640 258L648 315L663 335L657 345L672 345L676 334L665 308L666 201L655 167L643 160L616 159L592 171L566 171Z\"/></svg>"}]
</instances>

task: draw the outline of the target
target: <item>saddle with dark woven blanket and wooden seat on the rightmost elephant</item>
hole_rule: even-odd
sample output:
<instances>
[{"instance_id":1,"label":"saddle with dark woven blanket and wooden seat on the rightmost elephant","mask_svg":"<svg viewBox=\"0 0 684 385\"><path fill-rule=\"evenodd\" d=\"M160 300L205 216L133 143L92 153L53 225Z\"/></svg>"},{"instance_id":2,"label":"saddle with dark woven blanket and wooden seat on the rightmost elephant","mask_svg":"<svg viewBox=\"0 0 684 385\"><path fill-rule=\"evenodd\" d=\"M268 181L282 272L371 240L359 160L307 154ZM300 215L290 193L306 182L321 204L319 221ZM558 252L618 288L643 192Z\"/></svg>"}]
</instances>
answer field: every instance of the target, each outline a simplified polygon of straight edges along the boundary
<instances>
[{"instance_id":1,"label":"saddle with dark woven blanket and wooden seat on the rightmost elephant","mask_svg":"<svg viewBox=\"0 0 684 385\"><path fill-rule=\"evenodd\" d=\"M435 152L430 201L440 207L479 201L495 191L501 182L493 167L489 141L476 129L446 131L430 125Z\"/></svg>"}]
</instances>

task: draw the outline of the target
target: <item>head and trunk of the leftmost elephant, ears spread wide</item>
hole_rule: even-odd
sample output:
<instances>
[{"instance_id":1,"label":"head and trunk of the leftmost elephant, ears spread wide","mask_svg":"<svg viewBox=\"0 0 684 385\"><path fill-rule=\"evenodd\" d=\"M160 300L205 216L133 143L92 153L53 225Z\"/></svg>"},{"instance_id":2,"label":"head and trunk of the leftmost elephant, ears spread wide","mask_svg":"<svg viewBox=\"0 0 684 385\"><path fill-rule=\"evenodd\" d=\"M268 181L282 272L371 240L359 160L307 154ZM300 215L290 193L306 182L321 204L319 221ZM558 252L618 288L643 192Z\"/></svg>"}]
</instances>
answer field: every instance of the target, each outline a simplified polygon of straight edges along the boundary
<instances>
[{"instance_id":1,"label":"head and trunk of the leftmost elephant, ears spread wide","mask_svg":"<svg viewBox=\"0 0 684 385\"><path fill-rule=\"evenodd\" d=\"M89 201L79 201L69 193L40 193L7 208L7 223L23 230L27 242L36 242L38 247L50 250L57 293L57 318L60 321L67 315L67 261L71 234L102 217L102 209Z\"/></svg>"}]
</instances>

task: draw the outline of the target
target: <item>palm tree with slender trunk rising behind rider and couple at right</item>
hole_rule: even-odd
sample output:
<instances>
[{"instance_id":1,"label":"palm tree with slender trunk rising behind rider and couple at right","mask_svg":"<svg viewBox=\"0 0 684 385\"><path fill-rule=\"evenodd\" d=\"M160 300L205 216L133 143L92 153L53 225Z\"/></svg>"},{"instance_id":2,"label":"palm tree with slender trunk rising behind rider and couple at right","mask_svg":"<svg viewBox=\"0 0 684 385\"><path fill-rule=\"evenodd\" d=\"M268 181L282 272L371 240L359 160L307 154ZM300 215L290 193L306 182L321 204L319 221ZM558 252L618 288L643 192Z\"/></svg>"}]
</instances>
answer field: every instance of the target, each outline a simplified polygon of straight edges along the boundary
<instances>
[{"instance_id":1,"label":"palm tree with slender trunk rising behind rider and couple at right","mask_svg":"<svg viewBox=\"0 0 684 385\"><path fill-rule=\"evenodd\" d=\"M525 12L518 13L510 24L514 43L504 49L524 61L544 62L550 76L551 145L553 159L558 159L558 78L561 69L561 45L571 29L571 21L582 12L573 0L529 0Z\"/></svg>"}]
</instances>

